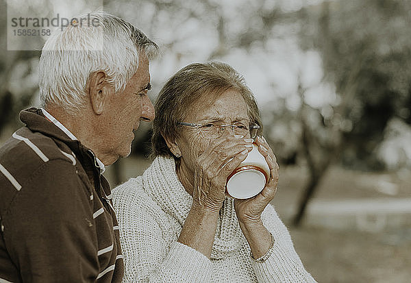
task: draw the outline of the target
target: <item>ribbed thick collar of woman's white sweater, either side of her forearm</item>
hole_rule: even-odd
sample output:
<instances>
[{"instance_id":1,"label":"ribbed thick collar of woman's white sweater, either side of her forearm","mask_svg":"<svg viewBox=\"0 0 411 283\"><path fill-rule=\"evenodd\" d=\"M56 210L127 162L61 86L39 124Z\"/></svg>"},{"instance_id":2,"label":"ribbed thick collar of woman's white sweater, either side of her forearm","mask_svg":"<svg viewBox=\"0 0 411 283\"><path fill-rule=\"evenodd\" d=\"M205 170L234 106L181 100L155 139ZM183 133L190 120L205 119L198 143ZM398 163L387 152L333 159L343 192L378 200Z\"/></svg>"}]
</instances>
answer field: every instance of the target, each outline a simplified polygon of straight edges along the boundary
<instances>
[{"instance_id":1,"label":"ribbed thick collar of woman's white sweater, either side of her forearm","mask_svg":"<svg viewBox=\"0 0 411 283\"><path fill-rule=\"evenodd\" d=\"M190 212L192 197L179 182L173 158L158 156L142 175L146 193L183 226ZM227 197L220 210L211 258L225 258L244 243L233 199Z\"/></svg>"}]
</instances>

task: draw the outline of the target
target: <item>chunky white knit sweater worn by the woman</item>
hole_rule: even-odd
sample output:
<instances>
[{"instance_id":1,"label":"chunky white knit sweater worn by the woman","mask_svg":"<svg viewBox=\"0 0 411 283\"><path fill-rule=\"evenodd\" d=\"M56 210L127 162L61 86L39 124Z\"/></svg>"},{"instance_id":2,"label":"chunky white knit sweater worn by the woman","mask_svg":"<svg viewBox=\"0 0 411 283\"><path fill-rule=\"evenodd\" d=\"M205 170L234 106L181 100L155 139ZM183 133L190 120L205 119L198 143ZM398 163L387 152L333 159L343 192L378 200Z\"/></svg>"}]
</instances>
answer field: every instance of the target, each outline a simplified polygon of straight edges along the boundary
<instances>
[{"instance_id":1,"label":"chunky white knit sweater worn by the woman","mask_svg":"<svg viewBox=\"0 0 411 283\"><path fill-rule=\"evenodd\" d=\"M210 260L178 243L192 197L179 182L172 158L155 158L142 176L113 190L113 202L125 261L123 282L315 282L270 205L262 221L275 245L265 262L251 260L229 198L221 208Z\"/></svg>"}]
</instances>

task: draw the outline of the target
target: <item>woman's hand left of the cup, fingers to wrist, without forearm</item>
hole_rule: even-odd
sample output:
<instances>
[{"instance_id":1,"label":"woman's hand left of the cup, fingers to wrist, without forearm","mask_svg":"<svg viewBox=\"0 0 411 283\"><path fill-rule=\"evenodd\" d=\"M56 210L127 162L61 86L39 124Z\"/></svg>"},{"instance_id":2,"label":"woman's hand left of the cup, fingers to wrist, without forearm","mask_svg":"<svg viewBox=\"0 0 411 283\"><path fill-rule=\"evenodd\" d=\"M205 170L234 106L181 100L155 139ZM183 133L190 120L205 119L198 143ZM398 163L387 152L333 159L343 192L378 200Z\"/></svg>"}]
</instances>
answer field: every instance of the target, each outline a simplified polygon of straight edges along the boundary
<instances>
[{"instance_id":1,"label":"woman's hand left of the cup, fingers to wrist, without forearm","mask_svg":"<svg viewBox=\"0 0 411 283\"><path fill-rule=\"evenodd\" d=\"M252 140L221 136L195 160L192 206L218 212L225 199L227 177L245 160Z\"/></svg>"}]
</instances>

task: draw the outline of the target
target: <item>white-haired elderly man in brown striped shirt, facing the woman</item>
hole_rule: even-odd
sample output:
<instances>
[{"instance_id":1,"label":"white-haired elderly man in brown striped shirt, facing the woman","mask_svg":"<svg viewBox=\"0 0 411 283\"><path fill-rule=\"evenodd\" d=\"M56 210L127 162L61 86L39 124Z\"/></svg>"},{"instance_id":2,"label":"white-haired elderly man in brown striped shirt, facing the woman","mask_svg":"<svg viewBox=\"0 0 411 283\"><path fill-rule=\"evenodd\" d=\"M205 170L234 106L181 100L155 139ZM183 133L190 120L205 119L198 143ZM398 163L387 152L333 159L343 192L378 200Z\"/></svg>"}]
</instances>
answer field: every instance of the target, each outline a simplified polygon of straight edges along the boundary
<instances>
[{"instance_id":1,"label":"white-haired elderly man in brown striped shirt, facing the woman","mask_svg":"<svg viewBox=\"0 0 411 283\"><path fill-rule=\"evenodd\" d=\"M121 282L123 256L110 186L154 110L149 59L157 45L122 19L80 16L47 40L43 108L0 149L0 282Z\"/></svg>"}]
</instances>

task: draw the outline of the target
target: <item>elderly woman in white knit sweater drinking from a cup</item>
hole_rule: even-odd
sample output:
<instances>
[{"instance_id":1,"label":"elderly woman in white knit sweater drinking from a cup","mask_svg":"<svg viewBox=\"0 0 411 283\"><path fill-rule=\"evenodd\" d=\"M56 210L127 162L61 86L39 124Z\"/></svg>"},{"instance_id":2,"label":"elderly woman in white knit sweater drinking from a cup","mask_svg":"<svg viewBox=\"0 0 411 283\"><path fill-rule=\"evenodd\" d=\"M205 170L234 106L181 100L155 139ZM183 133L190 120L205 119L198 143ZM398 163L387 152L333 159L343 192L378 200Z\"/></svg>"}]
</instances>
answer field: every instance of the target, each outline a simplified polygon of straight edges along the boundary
<instances>
[{"instance_id":1,"label":"elderly woman in white knit sweater drinking from a cup","mask_svg":"<svg viewBox=\"0 0 411 283\"><path fill-rule=\"evenodd\" d=\"M227 64L190 64L155 104L155 159L113 191L124 282L315 282L270 201L278 165L242 77ZM250 199L227 197L227 177L253 138L271 170Z\"/></svg>"}]
</instances>

